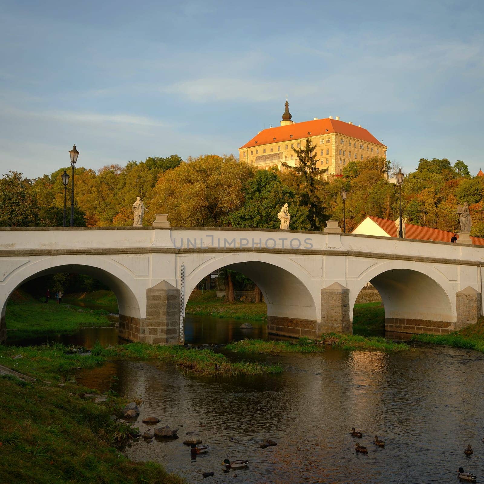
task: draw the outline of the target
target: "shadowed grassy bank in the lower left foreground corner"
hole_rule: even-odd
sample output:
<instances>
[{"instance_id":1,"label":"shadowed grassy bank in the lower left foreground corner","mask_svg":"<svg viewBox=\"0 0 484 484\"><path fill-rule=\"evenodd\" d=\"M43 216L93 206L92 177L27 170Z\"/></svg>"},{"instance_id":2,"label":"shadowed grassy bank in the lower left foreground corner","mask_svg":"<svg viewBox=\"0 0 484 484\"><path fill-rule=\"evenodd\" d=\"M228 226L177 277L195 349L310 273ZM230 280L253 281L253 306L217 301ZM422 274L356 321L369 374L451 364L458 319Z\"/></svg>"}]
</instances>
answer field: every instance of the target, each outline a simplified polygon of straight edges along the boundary
<instances>
[{"instance_id":1,"label":"shadowed grassy bank in the lower left foreground corner","mask_svg":"<svg viewBox=\"0 0 484 484\"><path fill-rule=\"evenodd\" d=\"M22 358L14 359L16 355ZM0 476L9 483L182 484L151 462L132 462L118 450L136 433L113 421L126 400L114 393L94 403L72 378L73 370L101 364L99 355L67 353L62 345L0 346L0 363L37 378L0 377ZM59 386L59 384L63 386Z\"/></svg>"}]
</instances>

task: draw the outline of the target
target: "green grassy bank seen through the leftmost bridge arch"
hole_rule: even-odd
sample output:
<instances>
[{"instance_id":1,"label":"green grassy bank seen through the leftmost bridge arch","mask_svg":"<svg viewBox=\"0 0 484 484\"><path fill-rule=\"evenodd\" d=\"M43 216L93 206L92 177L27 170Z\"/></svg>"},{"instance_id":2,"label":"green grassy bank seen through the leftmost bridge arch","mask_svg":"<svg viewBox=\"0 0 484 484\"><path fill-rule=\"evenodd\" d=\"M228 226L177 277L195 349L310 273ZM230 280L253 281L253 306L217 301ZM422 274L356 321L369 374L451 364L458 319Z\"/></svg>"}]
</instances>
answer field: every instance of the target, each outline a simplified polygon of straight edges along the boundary
<instances>
[{"instance_id":1,"label":"green grassy bank seen through the leftmost bridge arch","mask_svg":"<svg viewBox=\"0 0 484 484\"><path fill-rule=\"evenodd\" d=\"M7 337L9 342L15 342L49 333L73 333L84 327L110 326L106 314L103 310L57 304L55 300L45 304L25 292L15 291L7 303Z\"/></svg>"}]
</instances>

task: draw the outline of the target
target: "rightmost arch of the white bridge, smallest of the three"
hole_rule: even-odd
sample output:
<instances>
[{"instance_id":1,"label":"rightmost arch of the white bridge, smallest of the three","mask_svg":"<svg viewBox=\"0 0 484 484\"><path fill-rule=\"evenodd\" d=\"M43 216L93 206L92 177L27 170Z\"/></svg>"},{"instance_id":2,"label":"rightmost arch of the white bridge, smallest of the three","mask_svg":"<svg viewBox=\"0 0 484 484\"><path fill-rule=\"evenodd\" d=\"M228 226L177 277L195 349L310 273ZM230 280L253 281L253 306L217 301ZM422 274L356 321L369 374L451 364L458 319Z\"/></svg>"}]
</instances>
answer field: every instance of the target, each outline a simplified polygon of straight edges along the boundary
<instances>
[{"instance_id":1,"label":"rightmost arch of the white bridge, smallest of the three","mask_svg":"<svg viewBox=\"0 0 484 484\"><path fill-rule=\"evenodd\" d=\"M358 294L370 282L385 307L385 330L448 332L456 318L454 287L439 271L413 261L392 260L369 268L350 287L350 319ZM442 331L440 329L442 328Z\"/></svg>"}]
</instances>

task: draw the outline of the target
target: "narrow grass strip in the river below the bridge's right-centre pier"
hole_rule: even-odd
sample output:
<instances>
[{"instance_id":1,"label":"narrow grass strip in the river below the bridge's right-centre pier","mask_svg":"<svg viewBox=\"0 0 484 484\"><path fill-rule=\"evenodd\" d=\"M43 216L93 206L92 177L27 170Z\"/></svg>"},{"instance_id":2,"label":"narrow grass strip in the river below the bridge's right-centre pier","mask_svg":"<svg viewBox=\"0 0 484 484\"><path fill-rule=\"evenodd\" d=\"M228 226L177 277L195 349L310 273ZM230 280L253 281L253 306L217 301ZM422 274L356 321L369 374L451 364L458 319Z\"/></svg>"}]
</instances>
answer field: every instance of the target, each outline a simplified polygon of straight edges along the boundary
<instances>
[{"instance_id":1,"label":"narrow grass strip in the river below the bridge's right-centre pier","mask_svg":"<svg viewBox=\"0 0 484 484\"><path fill-rule=\"evenodd\" d=\"M325 347L345 350L378 350L378 351L406 351L411 349L405 343L393 343L385 338L371 336L365 338L354 334L330 333L320 340L299 338L297 341L263 341L260 339L243 340L231 343L225 348L236 353L319 353Z\"/></svg>"}]
</instances>

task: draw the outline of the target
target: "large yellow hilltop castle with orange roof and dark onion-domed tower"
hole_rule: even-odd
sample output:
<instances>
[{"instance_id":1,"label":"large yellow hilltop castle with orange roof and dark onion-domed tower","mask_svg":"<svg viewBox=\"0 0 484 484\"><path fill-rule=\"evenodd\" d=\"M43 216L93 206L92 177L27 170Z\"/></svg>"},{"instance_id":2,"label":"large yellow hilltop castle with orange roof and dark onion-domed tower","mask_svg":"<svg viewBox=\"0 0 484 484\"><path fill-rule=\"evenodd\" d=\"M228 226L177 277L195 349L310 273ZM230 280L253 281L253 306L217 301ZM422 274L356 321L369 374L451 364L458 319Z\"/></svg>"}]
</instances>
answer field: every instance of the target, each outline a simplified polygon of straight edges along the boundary
<instances>
[{"instance_id":1,"label":"large yellow hilltop castle with orange roof and dark onion-domed tower","mask_svg":"<svg viewBox=\"0 0 484 484\"><path fill-rule=\"evenodd\" d=\"M381 156L387 147L369 131L352 122L332 116L325 119L294 122L286 100L280 126L264 129L239 148L239 159L259 168L296 166L294 148L301 149L309 138L317 146L318 168L328 175L341 175L350 161Z\"/></svg>"}]
</instances>

